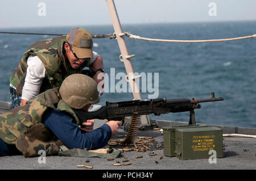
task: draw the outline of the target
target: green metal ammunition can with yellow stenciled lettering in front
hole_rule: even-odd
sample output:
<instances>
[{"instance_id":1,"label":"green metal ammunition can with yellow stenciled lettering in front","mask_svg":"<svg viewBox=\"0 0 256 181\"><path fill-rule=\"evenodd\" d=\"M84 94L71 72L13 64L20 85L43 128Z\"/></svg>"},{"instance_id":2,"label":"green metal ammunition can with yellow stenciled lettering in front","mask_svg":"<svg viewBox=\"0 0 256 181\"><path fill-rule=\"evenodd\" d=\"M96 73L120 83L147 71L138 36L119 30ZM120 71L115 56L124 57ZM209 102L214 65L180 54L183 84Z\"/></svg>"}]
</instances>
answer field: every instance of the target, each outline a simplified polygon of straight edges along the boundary
<instances>
[{"instance_id":1,"label":"green metal ammunition can with yellow stenciled lettering in front","mask_svg":"<svg viewBox=\"0 0 256 181\"><path fill-rule=\"evenodd\" d=\"M217 127L177 128L174 153L179 159L209 158L213 154L214 157L221 158L223 157L222 129Z\"/></svg>"}]
</instances>

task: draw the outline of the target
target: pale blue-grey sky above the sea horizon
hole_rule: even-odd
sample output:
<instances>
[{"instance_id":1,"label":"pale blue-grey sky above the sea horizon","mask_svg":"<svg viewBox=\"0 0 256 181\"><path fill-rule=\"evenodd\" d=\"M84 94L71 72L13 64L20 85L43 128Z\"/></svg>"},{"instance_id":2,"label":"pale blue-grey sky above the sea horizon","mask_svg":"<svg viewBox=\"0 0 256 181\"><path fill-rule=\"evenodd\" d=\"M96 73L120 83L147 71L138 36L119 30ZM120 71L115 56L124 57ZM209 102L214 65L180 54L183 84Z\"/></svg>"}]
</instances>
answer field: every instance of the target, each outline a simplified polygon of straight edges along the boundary
<instances>
[{"instance_id":1,"label":"pale blue-grey sky above the sea horizon","mask_svg":"<svg viewBox=\"0 0 256 181\"><path fill-rule=\"evenodd\" d=\"M43 2L45 16L39 16ZM122 24L256 20L255 0L115 0ZM210 16L209 4L216 4ZM42 11L41 11L42 12ZM112 24L106 0L1 1L0 28Z\"/></svg>"}]
</instances>

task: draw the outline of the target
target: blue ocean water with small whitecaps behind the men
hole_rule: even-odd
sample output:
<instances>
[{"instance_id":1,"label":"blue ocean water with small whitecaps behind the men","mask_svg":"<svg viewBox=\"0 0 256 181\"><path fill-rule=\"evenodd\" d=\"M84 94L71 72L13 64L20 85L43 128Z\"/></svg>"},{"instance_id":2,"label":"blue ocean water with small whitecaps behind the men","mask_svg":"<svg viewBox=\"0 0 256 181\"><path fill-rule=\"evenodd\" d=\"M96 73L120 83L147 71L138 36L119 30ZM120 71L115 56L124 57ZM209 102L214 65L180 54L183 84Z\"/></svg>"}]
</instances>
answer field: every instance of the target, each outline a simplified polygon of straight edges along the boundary
<instances>
[{"instance_id":1,"label":"blue ocean water with small whitecaps behind the men","mask_svg":"<svg viewBox=\"0 0 256 181\"><path fill-rule=\"evenodd\" d=\"M85 26L91 33L113 33L112 26ZM155 39L222 39L255 34L256 22L221 23L171 23L123 25L123 31ZM0 31L68 33L72 27L16 28ZM24 51L35 41L48 39L45 35L0 34L0 100L9 101L9 78L18 65ZM236 127L256 128L256 39L225 41L218 43L161 43L155 41L126 39L134 71L151 73L149 82L139 83L142 99L148 95L159 98L210 98L210 93L224 97L222 102L201 103L195 110L196 122ZM119 61L116 40L94 39L94 51L104 60L110 81L118 85L122 77L110 79L110 73L126 73ZM114 68L114 69L113 69ZM114 70L114 73L113 73ZM158 79L154 76L158 73ZM124 84L123 84L124 86ZM108 87L108 86L105 86ZM125 86L124 86L125 87ZM129 87L127 83L127 87ZM123 87L122 87L123 88ZM127 88L128 89L128 88ZM101 96L101 105L106 101L118 102L133 99L133 94L117 90L106 91ZM123 89L125 90L125 89ZM188 121L189 112L150 115L151 119Z\"/></svg>"}]
</instances>

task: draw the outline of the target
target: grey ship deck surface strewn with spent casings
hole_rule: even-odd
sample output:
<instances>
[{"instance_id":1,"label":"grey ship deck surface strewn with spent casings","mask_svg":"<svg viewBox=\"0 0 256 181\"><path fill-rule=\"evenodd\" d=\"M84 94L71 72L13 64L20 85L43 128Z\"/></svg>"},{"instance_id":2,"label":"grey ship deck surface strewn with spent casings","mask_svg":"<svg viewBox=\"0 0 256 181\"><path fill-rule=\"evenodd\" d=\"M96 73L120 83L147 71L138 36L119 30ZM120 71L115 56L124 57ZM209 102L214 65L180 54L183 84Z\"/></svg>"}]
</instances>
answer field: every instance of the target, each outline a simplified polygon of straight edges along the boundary
<instances>
[{"instance_id":1,"label":"grey ship deck surface strewn with spent casings","mask_svg":"<svg viewBox=\"0 0 256 181\"><path fill-rule=\"evenodd\" d=\"M104 121L97 120L95 128L104 124ZM126 132L120 128L118 135L125 135ZM153 133L150 128L146 131L139 131L138 136L152 136L157 142L163 142L163 134ZM0 157L0 169L77 169L77 165L93 166L93 170L234 170L234 169L256 169L256 138L242 138L242 137L224 137L223 143L226 145L224 150L224 158L217 158L217 163L209 163L208 159L191 159L181 160L176 157L164 156L163 149L146 151L144 153L136 151L125 151L122 155L132 162L128 166L114 166L113 164L118 160L120 163L124 160L123 157L115 158L114 161L107 161L106 158L81 158L81 157L46 157L46 163L39 163L38 157L24 158L22 155L11 157ZM150 156L149 153L156 153L155 156ZM143 158L136 159L136 156L142 155ZM89 159L89 163L85 161ZM158 163L156 163L157 161Z\"/></svg>"}]
</instances>

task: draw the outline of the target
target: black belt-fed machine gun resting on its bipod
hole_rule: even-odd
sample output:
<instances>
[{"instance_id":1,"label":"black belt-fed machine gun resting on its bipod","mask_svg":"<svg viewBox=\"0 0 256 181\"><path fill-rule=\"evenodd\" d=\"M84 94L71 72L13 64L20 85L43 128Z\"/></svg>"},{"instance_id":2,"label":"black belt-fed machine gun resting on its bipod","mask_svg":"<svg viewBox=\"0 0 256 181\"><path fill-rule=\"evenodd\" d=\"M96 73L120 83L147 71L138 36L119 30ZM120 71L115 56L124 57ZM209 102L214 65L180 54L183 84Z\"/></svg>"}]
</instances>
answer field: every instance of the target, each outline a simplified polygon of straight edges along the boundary
<instances>
[{"instance_id":1,"label":"black belt-fed machine gun resting on its bipod","mask_svg":"<svg viewBox=\"0 0 256 181\"><path fill-rule=\"evenodd\" d=\"M187 98L156 98L151 100L130 100L116 103L106 102L106 106L102 106L97 111L85 112L81 110L75 110L75 113L79 118L81 125L89 119L123 121L126 116L150 115L151 113L154 113L156 116L160 116L163 113L189 111L189 124L196 124L194 110L201 108L199 103L216 102L220 100L224 100L224 98L215 98L214 92L212 92L210 99L198 100L193 98L190 100Z\"/></svg>"}]
</instances>

